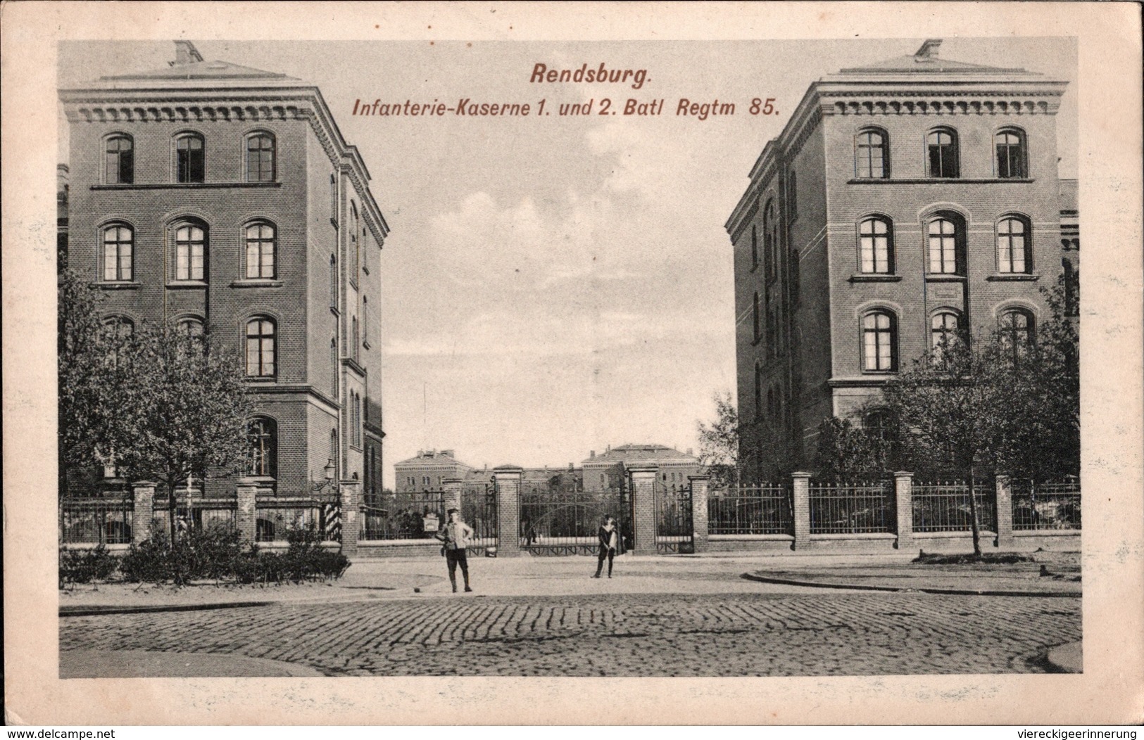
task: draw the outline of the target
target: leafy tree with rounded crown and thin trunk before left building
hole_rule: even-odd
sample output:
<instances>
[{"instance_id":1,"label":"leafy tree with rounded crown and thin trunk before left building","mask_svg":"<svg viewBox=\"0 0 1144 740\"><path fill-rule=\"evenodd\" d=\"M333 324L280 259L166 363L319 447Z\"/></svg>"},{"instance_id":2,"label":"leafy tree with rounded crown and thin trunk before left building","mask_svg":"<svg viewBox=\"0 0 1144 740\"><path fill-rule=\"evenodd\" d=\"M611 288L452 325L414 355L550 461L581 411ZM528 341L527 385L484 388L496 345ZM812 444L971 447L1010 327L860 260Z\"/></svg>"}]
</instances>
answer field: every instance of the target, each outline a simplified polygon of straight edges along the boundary
<instances>
[{"instance_id":1,"label":"leafy tree with rounded crown and thin trunk before left building","mask_svg":"<svg viewBox=\"0 0 1144 740\"><path fill-rule=\"evenodd\" d=\"M238 472L249 462L254 412L241 364L209 335L142 327L120 358L130 379L121 403L136 412L116 440L125 478L153 478L167 490L177 536L175 488L188 478Z\"/></svg>"}]
</instances>

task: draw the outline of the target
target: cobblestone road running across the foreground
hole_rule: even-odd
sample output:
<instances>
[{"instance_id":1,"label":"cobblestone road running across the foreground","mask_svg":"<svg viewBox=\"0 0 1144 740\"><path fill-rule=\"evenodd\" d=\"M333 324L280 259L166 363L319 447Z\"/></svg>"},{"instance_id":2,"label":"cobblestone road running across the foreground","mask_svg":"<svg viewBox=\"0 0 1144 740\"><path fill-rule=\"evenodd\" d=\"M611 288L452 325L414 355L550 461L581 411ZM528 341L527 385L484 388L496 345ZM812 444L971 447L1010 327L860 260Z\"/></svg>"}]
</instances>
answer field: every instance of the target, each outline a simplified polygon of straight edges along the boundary
<instances>
[{"instance_id":1,"label":"cobblestone road running across the foreground","mask_svg":"<svg viewBox=\"0 0 1144 740\"><path fill-rule=\"evenodd\" d=\"M61 650L221 653L329 676L1035 673L1080 599L865 592L426 596L61 619Z\"/></svg>"}]
</instances>

